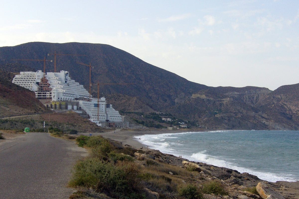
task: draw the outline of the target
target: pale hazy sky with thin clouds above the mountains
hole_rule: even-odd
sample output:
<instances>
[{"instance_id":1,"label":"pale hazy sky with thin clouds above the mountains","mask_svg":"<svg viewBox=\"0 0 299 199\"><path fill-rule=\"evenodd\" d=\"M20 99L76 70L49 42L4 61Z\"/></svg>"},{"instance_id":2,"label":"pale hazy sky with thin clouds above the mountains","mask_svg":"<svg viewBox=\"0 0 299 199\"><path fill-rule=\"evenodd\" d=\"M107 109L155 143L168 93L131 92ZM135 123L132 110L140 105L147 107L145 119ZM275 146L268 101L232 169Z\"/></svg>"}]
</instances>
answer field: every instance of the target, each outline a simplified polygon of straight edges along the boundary
<instances>
[{"instance_id":1,"label":"pale hazy sky with thin clouds above the mountains","mask_svg":"<svg viewBox=\"0 0 299 199\"><path fill-rule=\"evenodd\" d=\"M299 83L299 0L1 1L0 47L110 44L208 86Z\"/></svg>"}]
</instances>

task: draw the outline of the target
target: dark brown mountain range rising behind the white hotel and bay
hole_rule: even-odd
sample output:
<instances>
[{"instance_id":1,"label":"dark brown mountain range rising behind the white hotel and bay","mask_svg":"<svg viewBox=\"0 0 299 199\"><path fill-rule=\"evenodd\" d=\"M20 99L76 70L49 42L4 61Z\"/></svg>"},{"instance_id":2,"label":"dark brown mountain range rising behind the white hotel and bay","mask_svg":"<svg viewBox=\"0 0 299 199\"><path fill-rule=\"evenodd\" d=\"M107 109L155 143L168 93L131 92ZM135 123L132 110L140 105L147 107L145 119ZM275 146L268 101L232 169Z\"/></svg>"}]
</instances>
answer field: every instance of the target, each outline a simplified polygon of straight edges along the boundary
<instances>
[{"instance_id":1,"label":"dark brown mountain range rising behind the white hotel and bay","mask_svg":"<svg viewBox=\"0 0 299 199\"><path fill-rule=\"evenodd\" d=\"M7 72L42 70L41 61L14 59L54 59L57 71L67 70L80 84L89 85L92 69L92 95L106 96L123 112L161 111L190 124L208 129L298 129L298 85L283 86L271 92L260 87L208 87L148 64L105 44L32 42L0 48L0 69ZM76 55L86 56L76 56ZM46 71L54 65L46 63ZM105 83L105 85L104 85ZM110 83L110 84L108 84ZM124 84L125 83L125 84ZM107 85L108 84L108 85Z\"/></svg>"}]
</instances>

